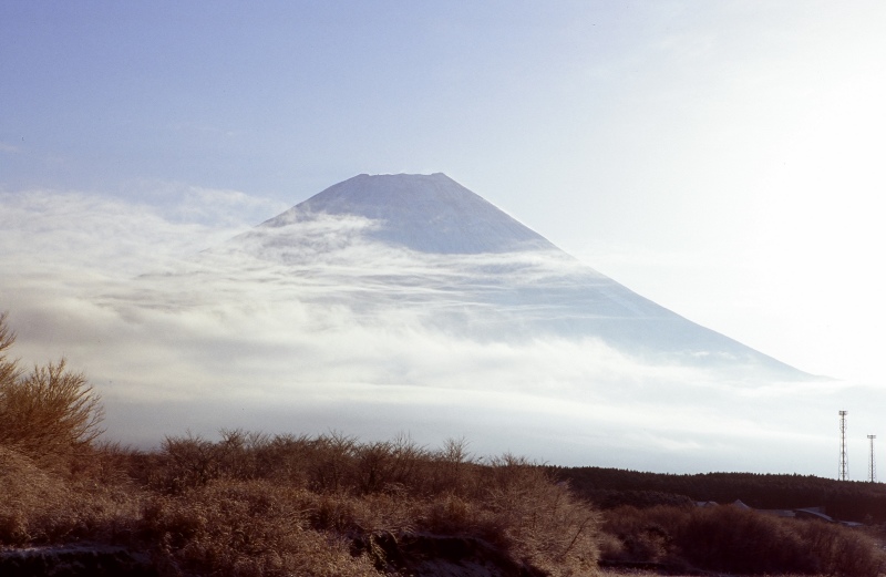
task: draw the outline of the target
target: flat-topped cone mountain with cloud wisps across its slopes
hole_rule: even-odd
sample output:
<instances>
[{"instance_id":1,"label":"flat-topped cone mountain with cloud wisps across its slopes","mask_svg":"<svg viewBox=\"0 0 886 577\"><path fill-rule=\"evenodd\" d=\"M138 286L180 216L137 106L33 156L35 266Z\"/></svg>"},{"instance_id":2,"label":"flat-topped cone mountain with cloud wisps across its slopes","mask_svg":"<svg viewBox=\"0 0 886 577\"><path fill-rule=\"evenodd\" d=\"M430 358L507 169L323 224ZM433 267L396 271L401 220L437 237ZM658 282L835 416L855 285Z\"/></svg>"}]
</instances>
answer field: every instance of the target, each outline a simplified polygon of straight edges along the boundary
<instances>
[{"instance_id":1,"label":"flat-topped cone mountain with cloud wisps across its slopes","mask_svg":"<svg viewBox=\"0 0 886 577\"><path fill-rule=\"evenodd\" d=\"M740 380L811 379L637 295L440 173L354 176L200 261L372 327L406 316L481 342L594 340Z\"/></svg>"}]
</instances>

